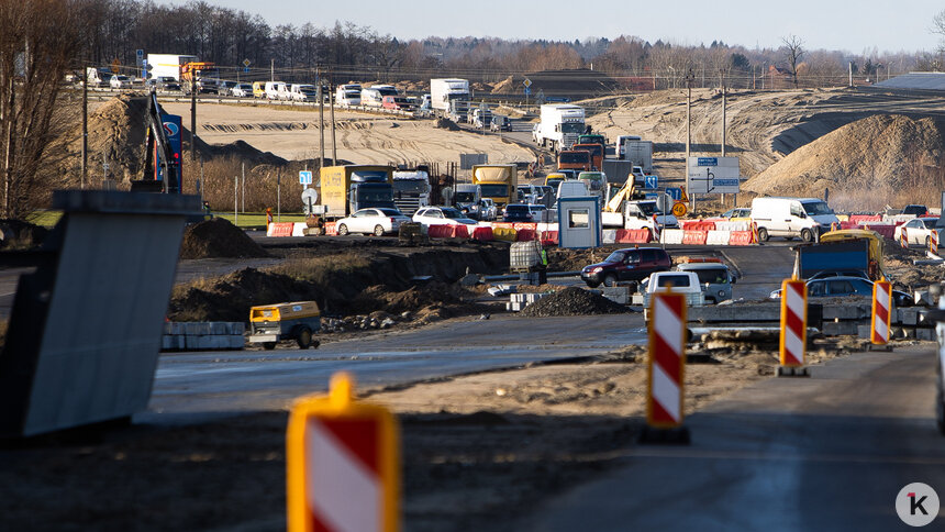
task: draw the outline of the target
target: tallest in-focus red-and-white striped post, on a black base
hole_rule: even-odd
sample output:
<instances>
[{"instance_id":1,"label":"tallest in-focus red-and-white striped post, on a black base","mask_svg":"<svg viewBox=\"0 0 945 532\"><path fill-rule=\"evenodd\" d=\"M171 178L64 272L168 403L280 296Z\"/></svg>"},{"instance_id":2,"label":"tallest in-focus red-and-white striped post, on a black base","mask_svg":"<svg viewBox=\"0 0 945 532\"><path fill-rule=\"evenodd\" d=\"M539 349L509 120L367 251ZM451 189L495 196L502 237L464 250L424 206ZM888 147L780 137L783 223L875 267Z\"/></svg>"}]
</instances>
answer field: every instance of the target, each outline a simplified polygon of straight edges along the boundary
<instances>
[{"instance_id":1,"label":"tallest in-focus red-and-white striped post, on a black base","mask_svg":"<svg viewBox=\"0 0 945 532\"><path fill-rule=\"evenodd\" d=\"M686 383L686 296L671 289L649 302L646 428L641 441L689 443L682 426Z\"/></svg>"}]
</instances>

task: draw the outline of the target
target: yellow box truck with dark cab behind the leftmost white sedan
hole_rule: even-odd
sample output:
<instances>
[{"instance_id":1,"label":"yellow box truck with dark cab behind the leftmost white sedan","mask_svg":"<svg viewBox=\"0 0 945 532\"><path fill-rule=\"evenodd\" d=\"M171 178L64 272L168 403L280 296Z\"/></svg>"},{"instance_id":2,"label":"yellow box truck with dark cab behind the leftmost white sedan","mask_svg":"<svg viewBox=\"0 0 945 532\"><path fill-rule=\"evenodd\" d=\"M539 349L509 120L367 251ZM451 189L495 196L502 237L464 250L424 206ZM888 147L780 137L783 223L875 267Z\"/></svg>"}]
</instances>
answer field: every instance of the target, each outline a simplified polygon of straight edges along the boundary
<instances>
[{"instance_id":1,"label":"yellow box truck with dark cab behind the leftmost white sedan","mask_svg":"<svg viewBox=\"0 0 945 532\"><path fill-rule=\"evenodd\" d=\"M368 207L397 209L391 166L326 166L319 175L322 206L327 220L337 220Z\"/></svg>"}]
</instances>

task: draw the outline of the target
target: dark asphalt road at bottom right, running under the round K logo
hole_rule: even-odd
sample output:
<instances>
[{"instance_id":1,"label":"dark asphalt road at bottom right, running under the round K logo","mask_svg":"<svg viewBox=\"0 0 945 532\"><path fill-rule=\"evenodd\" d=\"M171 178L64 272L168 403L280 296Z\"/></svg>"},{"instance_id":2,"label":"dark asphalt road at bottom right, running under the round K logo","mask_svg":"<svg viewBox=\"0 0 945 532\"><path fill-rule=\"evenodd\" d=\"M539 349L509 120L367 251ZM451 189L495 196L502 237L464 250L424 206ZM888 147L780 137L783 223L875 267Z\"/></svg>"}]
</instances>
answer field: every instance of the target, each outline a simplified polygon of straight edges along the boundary
<instances>
[{"instance_id":1,"label":"dark asphalt road at bottom right, running under the round K logo","mask_svg":"<svg viewBox=\"0 0 945 532\"><path fill-rule=\"evenodd\" d=\"M766 379L689 418L689 446L640 445L526 520L541 531L910 530L910 483L945 496L932 347ZM937 527L936 527L937 524ZM943 530L945 513L929 530Z\"/></svg>"}]
</instances>

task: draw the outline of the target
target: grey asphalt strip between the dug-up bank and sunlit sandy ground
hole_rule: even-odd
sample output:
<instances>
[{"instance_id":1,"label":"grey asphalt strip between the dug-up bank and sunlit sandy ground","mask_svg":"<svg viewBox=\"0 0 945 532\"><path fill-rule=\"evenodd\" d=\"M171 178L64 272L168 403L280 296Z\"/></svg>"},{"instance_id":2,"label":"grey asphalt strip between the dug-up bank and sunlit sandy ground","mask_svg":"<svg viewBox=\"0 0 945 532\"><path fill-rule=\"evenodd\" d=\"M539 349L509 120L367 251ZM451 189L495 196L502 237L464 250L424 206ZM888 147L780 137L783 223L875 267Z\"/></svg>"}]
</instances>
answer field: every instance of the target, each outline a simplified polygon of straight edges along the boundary
<instances>
[{"instance_id":1,"label":"grey asphalt strip between the dug-up bank and sunlit sandy ground","mask_svg":"<svg viewBox=\"0 0 945 532\"><path fill-rule=\"evenodd\" d=\"M362 386L402 385L603 354L645 340L641 313L540 319L502 315L378 333L318 350L163 354L149 412L142 419L280 409L299 396L325 391L330 377L340 370L352 372Z\"/></svg>"}]
</instances>

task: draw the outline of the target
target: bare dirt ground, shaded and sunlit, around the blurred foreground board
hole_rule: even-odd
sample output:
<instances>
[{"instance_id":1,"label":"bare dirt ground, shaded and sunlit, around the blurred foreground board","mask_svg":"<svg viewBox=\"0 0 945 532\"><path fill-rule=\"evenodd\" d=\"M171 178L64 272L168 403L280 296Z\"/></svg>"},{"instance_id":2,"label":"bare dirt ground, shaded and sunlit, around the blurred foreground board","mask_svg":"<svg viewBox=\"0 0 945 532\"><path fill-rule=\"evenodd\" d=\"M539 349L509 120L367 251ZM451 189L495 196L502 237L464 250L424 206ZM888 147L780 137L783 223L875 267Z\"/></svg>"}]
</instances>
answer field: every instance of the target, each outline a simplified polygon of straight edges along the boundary
<instances>
[{"instance_id":1,"label":"bare dirt ground, shaded and sunlit, around the blurred foreground board","mask_svg":"<svg viewBox=\"0 0 945 532\"><path fill-rule=\"evenodd\" d=\"M769 378L777 364L770 351L713 347L687 368L690 413ZM822 342L811 362L855 347ZM629 347L365 390L399 414L405 530L520 530L541 501L619 466L644 423L644 359ZM0 529L285 530L286 421L263 412L135 424L0 450Z\"/></svg>"}]
</instances>

